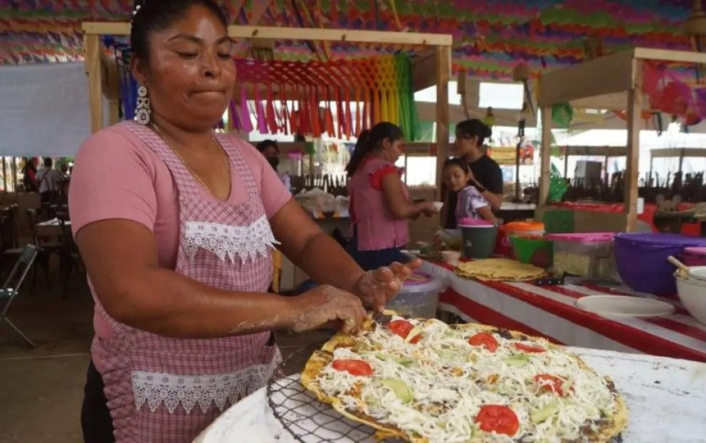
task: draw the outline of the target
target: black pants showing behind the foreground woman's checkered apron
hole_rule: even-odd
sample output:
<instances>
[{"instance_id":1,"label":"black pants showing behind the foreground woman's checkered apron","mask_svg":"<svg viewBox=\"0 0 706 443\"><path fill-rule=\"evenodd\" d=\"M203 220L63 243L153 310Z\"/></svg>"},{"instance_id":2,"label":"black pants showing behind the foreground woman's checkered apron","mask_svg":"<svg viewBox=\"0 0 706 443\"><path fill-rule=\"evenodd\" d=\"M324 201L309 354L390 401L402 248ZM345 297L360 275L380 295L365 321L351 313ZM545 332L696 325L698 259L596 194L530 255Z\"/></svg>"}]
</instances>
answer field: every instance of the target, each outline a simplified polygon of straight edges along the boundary
<instances>
[{"instance_id":1,"label":"black pants showing behind the foreground woman's checkered apron","mask_svg":"<svg viewBox=\"0 0 706 443\"><path fill-rule=\"evenodd\" d=\"M114 443L112 418L107 399L103 392L103 378L93 365L88 365L86 385L83 389L83 407L81 408L81 429L85 443Z\"/></svg>"}]
</instances>

